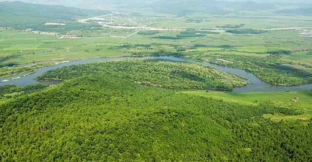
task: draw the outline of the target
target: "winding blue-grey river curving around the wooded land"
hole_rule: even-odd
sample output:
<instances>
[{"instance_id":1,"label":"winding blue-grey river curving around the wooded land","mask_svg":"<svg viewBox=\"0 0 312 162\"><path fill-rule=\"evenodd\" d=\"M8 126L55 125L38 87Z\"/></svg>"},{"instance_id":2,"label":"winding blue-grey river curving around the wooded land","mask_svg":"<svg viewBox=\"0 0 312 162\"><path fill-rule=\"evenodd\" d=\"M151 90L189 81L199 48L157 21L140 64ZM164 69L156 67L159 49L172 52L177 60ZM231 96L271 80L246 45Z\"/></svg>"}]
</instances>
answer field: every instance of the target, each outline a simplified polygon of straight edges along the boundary
<instances>
[{"instance_id":1,"label":"winding blue-grey river curving around the wooded land","mask_svg":"<svg viewBox=\"0 0 312 162\"><path fill-rule=\"evenodd\" d=\"M17 86L26 86L30 84L36 84L38 81L36 80L44 72L65 67L71 65L78 65L78 64L86 64L92 62L100 62L100 61L113 61L113 60L120 60L126 58L138 58L138 57L108 57L108 58L92 58L92 59L85 59L85 60L76 60L71 62L60 63L55 66L45 67L37 70L36 72L21 76L20 78L10 79L7 82L2 82L4 79L0 79L0 86L4 85L17 85ZM250 84L244 87L234 88L233 92L269 92L269 91L295 91L295 90L312 90L312 84L307 85L300 85L300 86L274 86L268 83L261 81L258 77L256 77L253 73L246 72L244 70L229 68L225 66L219 66L215 64L210 64L208 62L195 62L195 61L188 61L183 58L173 57L173 56L146 56L146 57L139 57L139 58L147 58L147 59L164 59L164 60L171 60L171 61L180 61L180 62L194 62L197 64L201 64L204 66L214 67L222 72L229 72L234 73L240 76L243 76L248 80ZM40 81L41 82L41 81ZM50 84L58 84L59 81L49 81Z\"/></svg>"}]
</instances>

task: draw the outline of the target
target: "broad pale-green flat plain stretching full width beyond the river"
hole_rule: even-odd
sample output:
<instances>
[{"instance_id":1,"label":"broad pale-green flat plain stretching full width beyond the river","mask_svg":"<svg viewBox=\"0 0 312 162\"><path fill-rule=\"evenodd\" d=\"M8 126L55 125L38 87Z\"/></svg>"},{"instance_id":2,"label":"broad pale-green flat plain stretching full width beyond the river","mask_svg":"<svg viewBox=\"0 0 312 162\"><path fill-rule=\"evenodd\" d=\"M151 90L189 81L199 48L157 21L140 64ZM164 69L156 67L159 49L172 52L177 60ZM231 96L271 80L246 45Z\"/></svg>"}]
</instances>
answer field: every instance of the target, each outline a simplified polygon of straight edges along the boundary
<instances>
[{"instance_id":1,"label":"broad pale-green flat plain stretching full width beyond the river","mask_svg":"<svg viewBox=\"0 0 312 162\"><path fill-rule=\"evenodd\" d=\"M237 18L234 18L237 19ZM157 19L158 20L158 19ZM227 20L227 18L224 18ZM269 18L270 20L270 18ZM159 22L165 21L160 19ZM177 18L178 22L182 22ZM246 21L246 20L245 20ZM158 22L158 21L157 21ZM209 22L212 23L212 22ZM252 23L252 22L251 22ZM152 23L154 24L154 23ZM172 25L175 23L172 22ZM210 28L206 24L199 24L198 28ZM219 25L215 23L215 25ZM309 24L306 24L309 25ZM248 28L252 27L249 24ZM157 26L165 27L165 26ZM174 27L174 26L171 26ZM190 28L193 26L186 26ZM281 26L274 26L281 27ZM211 27L215 28L215 27ZM257 28L258 29L258 28ZM217 30L221 32L223 30ZM220 35L208 35L200 38L183 38L183 39L157 39L157 36L173 36L179 34L179 32L166 32L162 31L159 34L153 36L140 36L134 35L129 38L122 38L123 36L130 35L133 30L122 29L90 29L81 30L77 32L69 32L72 35L88 36L82 39L59 39L57 36L42 36L24 32L7 32L2 31L0 33L1 41L1 56L8 56L12 54L20 54L23 50L23 57L18 63L25 63L31 61L43 61L55 59L78 59L78 58L90 58L98 56L116 56L125 55L127 50L117 49L122 44L148 44L154 46L154 48L175 51L175 46L185 46L190 48L189 51L203 51L209 50L210 47L233 47L232 49L219 48L223 53L231 54L267 54L269 52L282 50L292 51L291 58L308 57L304 53L297 55L298 52L311 48L311 39L300 37L295 31L272 31L261 35L233 35L223 33ZM14 44L14 47L11 45ZM205 45L202 47L202 45ZM94 51L94 50L100 51ZM103 51L105 50L105 54ZM52 51L47 54L39 54L39 52ZM211 52L215 52L212 51ZM29 53L29 54L27 54ZM31 54L30 54L31 53ZM34 55L34 56L31 56ZM44 55L44 56L42 56ZM84 55L84 56L82 56ZM88 57L89 56L89 57ZM289 56L289 55L287 55ZM52 58L53 57L53 58ZM286 57L286 56L285 56ZM301 59L303 60L303 59ZM8 60L13 61L14 60ZM304 59L307 61L307 59Z\"/></svg>"}]
</instances>

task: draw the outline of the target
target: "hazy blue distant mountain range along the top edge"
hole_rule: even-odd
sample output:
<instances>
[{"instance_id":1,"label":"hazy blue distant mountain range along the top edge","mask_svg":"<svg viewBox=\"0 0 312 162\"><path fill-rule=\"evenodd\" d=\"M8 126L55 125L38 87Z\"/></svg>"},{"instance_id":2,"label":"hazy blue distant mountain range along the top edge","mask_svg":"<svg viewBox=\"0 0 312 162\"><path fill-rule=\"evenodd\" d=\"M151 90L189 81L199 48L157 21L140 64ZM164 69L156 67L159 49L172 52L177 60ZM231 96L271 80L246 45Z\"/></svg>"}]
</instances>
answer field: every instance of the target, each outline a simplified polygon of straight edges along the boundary
<instances>
[{"instance_id":1,"label":"hazy blue distant mountain range along the top edge","mask_svg":"<svg viewBox=\"0 0 312 162\"><path fill-rule=\"evenodd\" d=\"M3 0L0 0L3 1ZM242 11L279 10L280 14L311 15L311 0L22 0L29 3L64 5L77 8L110 10L149 8L156 12L187 15L194 12L229 14ZM16 2L17 3L17 2ZM92 13L88 11L88 13ZM80 13L78 13L79 15ZM86 14L86 13L81 13Z\"/></svg>"}]
</instances>

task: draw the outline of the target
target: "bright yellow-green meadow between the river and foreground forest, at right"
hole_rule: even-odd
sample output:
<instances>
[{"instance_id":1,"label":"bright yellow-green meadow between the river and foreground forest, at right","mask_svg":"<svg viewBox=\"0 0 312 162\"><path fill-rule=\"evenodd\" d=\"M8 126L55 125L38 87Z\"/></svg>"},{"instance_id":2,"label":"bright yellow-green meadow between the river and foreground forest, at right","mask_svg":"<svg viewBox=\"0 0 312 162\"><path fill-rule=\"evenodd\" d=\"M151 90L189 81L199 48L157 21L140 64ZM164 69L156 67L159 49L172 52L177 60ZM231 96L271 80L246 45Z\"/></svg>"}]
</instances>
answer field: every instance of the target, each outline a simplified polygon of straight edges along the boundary
<instances>
[{"instance_id":1,"label":"bright yellow-green meadow between the river and foreground forest, at right","mask_svg":"<svg viewBox=\"0 0 312 162\"><path fill-rule=\"evenodd\" d=\"M292 92L248 92L248 93L223 93L218 91L182 91L181 93L192 94L201 97L213 98L242 105L258 105L260 102L270 102L276 106L292 108L303 111L300 115L265 114L265 117L273 121L302 120L307 122L312 118L312 91ZM298 99L296 99L298 98Z\"/></svg>"}]
</instances>

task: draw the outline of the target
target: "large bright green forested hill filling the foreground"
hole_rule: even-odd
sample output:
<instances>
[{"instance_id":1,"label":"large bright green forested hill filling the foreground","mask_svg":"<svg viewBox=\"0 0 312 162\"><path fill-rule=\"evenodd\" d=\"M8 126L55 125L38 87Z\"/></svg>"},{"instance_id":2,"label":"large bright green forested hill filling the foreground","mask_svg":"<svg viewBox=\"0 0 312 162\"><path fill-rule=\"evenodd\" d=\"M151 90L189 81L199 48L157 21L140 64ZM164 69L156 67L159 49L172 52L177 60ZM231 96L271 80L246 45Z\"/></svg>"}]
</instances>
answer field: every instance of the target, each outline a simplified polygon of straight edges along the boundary
<instances>
[{"instance_id":1,"label":"large bright green forested hill filling the foreground","mask_svg":"<svg viewBox=\"0 0 312 162\"><path fill-rule=\"evenodd\" d=\"M299 114L85 75L0 105L0 161L311 161L312 122L269 113Z\"/></svg>"}]
</instances>

